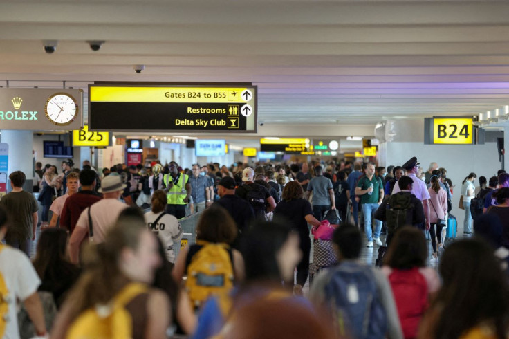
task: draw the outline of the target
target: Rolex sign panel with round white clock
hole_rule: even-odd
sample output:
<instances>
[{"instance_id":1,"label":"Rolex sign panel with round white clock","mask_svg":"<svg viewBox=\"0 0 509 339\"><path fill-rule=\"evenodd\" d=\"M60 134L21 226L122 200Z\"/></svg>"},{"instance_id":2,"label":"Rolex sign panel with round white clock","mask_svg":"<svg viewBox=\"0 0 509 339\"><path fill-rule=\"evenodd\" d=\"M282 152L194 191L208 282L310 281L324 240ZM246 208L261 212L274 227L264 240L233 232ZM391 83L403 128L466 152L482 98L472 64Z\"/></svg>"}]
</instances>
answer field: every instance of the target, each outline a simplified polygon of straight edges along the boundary
<instances>
[{"instance_id":1,"label":"Rolex sign panel with round white clock","mask_svg":"<svg viewBox=\"0 0 509 339\"><path fill-rule=\"evenodd\" d=\"M81 89L0 89L1 129L71 131L83 125Z\"/></svg>"}]
</instances>

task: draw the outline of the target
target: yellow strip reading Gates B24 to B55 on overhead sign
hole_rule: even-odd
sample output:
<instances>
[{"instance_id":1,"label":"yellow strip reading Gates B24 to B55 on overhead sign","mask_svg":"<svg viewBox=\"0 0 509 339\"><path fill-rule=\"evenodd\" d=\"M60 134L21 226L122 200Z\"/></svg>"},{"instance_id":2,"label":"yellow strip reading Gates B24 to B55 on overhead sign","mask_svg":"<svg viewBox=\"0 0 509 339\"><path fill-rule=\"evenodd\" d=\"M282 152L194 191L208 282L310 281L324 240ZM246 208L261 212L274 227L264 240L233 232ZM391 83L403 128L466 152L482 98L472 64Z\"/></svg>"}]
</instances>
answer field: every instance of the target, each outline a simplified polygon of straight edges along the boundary
<instances>
[{"instance_id":1,"label":"yellow strip reading Gates B24 to B55 on overhead sign","mask_svg":"<svg viewBox=\"0 0 509 339\"><path fill-rule=\"evenodd\" d=\"M91 86L90 88L91 102L246 103L252 99L252 96L252 91L246 87Z\"/></svg>"}]
</instances>

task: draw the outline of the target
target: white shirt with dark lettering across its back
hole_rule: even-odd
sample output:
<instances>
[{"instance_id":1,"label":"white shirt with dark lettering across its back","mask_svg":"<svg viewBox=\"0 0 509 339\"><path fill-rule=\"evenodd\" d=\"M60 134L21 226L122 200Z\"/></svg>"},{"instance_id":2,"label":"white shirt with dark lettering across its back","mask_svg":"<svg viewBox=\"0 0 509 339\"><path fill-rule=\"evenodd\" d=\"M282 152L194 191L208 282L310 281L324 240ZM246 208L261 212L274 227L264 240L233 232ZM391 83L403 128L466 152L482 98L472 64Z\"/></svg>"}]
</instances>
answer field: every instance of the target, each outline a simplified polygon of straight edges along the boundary
<instances>
[{"instance_id":1,"label":"white shirt with dark lettering across its back","mask_svg":"<svg viewBox=\"0 0 509 339\"><path fill-rule=\"evenodd\" d=\"M174 263L174 246L178 246L178 243L181 241L182 226L172 214L163 215L156 225L154 225L154 221L156 221L161 213L163 212L154 213L150 211L145 213L145 223L147 223L147 228L154 232L163 243L166 259Z\"/></svg>"}]
</instances>

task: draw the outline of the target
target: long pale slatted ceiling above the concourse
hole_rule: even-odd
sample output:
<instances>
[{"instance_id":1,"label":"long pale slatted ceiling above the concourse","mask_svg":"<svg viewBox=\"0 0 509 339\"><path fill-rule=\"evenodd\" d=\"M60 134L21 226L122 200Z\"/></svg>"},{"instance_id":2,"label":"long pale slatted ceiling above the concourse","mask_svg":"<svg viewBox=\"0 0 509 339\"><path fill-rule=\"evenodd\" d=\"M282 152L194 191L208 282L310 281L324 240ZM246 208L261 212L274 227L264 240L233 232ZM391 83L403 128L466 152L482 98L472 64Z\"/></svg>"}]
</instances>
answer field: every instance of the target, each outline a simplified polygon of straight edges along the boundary
<instances>
[{"instance_id":1,"label":"long pale slatted ceiling above the concourse","mask_svg":"<svg viewBox=\"0 0 509 339\"><path fill-rule=\"evenodd\" d=\"M476 115L509 103L508 18L488 0L0 0L0 86L252 82L280 129Z\"/></svg>"}]
</instances>

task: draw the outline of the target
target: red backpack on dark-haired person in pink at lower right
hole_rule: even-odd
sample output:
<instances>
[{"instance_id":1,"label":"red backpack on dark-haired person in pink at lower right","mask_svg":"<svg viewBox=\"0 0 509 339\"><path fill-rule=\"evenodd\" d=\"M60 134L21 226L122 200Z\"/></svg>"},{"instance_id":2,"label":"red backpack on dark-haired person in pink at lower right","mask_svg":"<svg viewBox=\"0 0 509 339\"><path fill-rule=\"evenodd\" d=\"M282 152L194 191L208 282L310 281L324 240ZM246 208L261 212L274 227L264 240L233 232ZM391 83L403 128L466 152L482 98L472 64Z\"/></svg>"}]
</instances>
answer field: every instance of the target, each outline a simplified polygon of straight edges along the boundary
<instances>
[{"instance_id":1,"label":"red backpack on dark-haired person in pink at lower right","mask_svg":"<svg viewBox=\"0 0 509 339\"><path fill-rule=\"evenodd\" d=\"M405 338L416 338L420 319L428 307L427 283L418 268L394 269L389 275L394 302Z\"/></svg>"}]
</instances>

